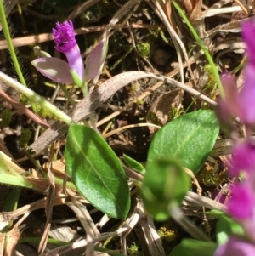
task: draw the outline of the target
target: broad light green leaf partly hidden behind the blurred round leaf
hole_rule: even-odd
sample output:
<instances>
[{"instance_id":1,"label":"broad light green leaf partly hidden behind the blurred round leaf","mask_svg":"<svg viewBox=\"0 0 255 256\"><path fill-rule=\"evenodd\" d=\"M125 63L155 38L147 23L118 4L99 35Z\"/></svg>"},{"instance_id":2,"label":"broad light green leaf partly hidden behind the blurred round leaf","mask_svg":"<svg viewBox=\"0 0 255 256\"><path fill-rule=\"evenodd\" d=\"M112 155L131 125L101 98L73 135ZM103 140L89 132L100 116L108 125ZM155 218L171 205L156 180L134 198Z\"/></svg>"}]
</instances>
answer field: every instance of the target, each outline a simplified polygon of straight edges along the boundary
<instances>
[{"instance_id":1,"label":"broad light green leaf partly hidden behind the blurred round leaf","mask_svg":"<svg viewBox=\"0 0 255 256\"><path fill-rule=\"evenodd\" d=\"M168 122L150 144L146 169L156 156L175 157L196 174L212 151L218 129L213 111L194 111Z\"/></svg>"}]
</instances>

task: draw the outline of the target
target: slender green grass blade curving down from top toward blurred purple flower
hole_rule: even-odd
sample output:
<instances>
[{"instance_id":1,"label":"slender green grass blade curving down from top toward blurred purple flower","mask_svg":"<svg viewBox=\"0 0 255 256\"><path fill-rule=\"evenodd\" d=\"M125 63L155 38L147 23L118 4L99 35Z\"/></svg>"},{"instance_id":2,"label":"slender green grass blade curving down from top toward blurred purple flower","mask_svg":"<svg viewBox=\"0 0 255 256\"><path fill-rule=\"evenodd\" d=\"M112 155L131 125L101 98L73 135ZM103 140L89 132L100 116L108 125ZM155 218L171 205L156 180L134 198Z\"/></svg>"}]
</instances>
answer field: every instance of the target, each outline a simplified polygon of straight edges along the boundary
<instances>
[{"instance_id":1,"label":"slender green grass blade curving down from top toward blurred purple flower","mask_svg":"<svg viewBox=\"0 0 255 256\"><path fill-rule=\"evenodd\" d=\"M211 54L208 52L206 46L202 43L201 38L197 35L194 27L190 24L190 20L188 20L188 18L185 16L182 9L179 8L178 4L174 0L171 0L171 2L173 3L175 9L177 9L178 14L183 18L183 20L185 21L185 23L189 27L190 32L192 33L193 37L195 38L195 41L199 44L199 46L203 50L204 54L206 55L207 60L208 60L209 64L212 67L212 73L216 78L216 82L218 84L219 94L221 95L222 98L224 98L224 88L222 86L220 77L218 75L218 69L217 69L216 65L214 64L214 61L212 60Z\"/></svg>"}]
</instances>

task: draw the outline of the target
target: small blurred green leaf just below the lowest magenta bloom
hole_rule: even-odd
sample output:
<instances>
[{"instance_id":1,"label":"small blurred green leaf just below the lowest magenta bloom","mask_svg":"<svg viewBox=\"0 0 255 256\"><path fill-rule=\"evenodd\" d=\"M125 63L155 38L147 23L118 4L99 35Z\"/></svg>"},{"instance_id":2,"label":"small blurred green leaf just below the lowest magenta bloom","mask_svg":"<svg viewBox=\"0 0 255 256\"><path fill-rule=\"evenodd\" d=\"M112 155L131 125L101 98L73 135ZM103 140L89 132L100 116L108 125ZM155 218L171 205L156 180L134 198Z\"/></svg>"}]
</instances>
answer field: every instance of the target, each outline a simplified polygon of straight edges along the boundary
<instances>
[{"instance_id":1,"label":"small blurred green leaf just below the lowest magenta bloom","mask_svg":"<svg viewBox=\"0 0 255 256\"><path fill-rule=\"evenodd\" d=\"M235 220L223 215L218 218L216 225L216 237L218 244L225 243L229 240L229 236L244 236L244 230Z\"/></svg>"}]
</instances>

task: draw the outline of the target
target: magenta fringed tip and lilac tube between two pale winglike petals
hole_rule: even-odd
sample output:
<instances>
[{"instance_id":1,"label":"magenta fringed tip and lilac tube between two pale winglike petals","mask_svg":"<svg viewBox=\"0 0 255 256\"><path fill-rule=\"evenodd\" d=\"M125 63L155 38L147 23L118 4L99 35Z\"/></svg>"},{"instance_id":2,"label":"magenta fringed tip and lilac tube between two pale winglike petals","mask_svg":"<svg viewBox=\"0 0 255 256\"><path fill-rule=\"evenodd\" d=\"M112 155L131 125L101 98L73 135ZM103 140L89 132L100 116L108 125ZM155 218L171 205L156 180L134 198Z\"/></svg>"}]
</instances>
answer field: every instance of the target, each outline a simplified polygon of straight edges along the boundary
<instances>
[{"instance_id":1,"label":"magenta fringed tip and lilac tube between two pale winglike petals","mask_svg":"<svg viewBox=\"0 0 255 256\"><path fill-rule=\"evenodd\" d=\"M71 20L60 24L57 22L56 28L53 29L55 48L64 53L70 69L77 72L78 77L84 79L84 65L80 48L77 45L75 38L74 27Z\"/></svg>"}]
</instances>

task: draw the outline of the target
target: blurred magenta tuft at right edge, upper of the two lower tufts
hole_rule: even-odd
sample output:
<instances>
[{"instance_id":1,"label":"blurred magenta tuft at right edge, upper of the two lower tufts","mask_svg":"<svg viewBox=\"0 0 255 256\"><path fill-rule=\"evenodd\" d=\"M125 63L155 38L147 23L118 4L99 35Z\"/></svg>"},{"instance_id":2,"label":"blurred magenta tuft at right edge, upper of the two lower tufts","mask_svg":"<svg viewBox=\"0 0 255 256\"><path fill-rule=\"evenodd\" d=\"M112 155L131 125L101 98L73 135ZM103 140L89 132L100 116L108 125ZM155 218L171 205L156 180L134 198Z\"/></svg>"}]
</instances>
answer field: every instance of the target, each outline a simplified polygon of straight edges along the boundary
<instances>
[{"instance_id":1,"label":"blurred magenta tuft at right edge, upper of the two lower tufts","mask_svg":"<svg viewBox=\"0 0 255 256\"><path fill-rule=\"evenodd\" d=\"M232 176L238 176L241 171L255 174L255 145L252 141L236 144L233 147L231 165L229 172Z\"/></svg>"}]
</instances>

